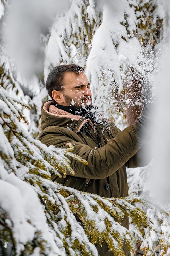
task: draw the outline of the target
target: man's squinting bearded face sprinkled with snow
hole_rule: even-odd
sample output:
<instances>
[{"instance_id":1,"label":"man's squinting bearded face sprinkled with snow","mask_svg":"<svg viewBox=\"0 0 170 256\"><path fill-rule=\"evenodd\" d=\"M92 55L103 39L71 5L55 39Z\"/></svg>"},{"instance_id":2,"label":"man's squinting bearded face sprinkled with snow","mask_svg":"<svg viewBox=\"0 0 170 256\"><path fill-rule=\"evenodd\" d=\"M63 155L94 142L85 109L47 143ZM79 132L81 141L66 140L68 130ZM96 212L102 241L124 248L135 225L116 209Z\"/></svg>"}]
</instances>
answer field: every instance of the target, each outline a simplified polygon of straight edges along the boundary
<instances>
[{"instance_id":1,"label":"man's squinting bearded face sprinkled with snow","mask_svg":"<svg viewBox=\"0 0 170 256\"><path fill-rule=\"evenodd\" d=\"M92 103L90 83L84 72L66 72L62 91L64 106L88 106Z\"/></svg>"}]
</instances>

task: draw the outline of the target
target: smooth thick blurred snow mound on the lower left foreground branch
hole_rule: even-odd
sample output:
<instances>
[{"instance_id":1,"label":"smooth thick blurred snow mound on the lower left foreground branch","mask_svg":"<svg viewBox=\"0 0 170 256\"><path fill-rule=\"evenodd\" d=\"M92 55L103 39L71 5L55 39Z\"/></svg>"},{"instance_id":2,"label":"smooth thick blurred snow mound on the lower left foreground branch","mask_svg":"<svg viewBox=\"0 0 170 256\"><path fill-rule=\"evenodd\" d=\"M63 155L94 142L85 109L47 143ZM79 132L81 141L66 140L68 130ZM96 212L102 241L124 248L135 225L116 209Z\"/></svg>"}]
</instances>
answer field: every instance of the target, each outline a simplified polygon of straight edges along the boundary
<instances>
[{"instance_id":1,"label":"smooth thick blurred snow mound on the lower left foreground branch","mask_svg":"<svg viewBox=\"0 0 170 256\"><path fill-rule=\"evenodd\" d=\"M22 244L33 240L36 230L41 232L53 252L59 252L49 230L43 205L30 184L10 173L5 180L0 180L0 194L0 205L12 221L12 230L18 244L17 253L23 250Z\"/></svg>"}]
</instances>

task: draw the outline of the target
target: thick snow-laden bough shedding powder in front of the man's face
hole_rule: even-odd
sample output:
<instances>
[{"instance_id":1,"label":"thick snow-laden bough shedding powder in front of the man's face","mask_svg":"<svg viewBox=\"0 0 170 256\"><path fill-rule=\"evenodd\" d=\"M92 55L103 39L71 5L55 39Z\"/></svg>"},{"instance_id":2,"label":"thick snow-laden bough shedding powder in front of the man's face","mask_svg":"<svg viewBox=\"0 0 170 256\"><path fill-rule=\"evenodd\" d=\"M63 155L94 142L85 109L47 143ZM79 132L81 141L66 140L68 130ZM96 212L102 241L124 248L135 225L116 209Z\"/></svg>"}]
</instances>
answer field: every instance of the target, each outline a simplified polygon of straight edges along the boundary
<instances>
[{"instance_id":1,"label":"thick snow-laden bough shedding powder in front of the man's face","mask_svg":"<svg viewBox=\"0 0 170 256\"><path fill-rule=\"evenodd\" d=\"M158 29L161 32L161 21L155 1L104 4L102 24L87 59L87 74L96 103L105 102L108 117L117 119L115 113L119 111L119 116L126 114L132 124L140 114L141 104L151 97L155 58L151 46L161 40L161 33L157 33Z\"/></svg>"}]
</instances>

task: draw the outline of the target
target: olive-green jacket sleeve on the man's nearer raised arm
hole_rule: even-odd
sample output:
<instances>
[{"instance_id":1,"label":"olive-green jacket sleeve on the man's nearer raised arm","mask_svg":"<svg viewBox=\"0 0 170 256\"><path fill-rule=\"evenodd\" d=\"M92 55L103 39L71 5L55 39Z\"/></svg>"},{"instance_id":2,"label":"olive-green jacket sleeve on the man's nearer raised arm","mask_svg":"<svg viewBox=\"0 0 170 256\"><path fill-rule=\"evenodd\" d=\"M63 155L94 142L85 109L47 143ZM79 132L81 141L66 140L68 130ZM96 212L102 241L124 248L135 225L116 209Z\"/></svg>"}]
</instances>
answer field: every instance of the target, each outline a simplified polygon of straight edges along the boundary
<instances>
[{"instance_id":1,"label":"olive-green jacket sleeve on the man's nearer raised arm","mask_svg":"<svg viewBox=\"0 0 170 256\"><path fill-rule=\"evenodd\" d=\"M125 128L114 139L109 140L105 146L97 149L73 140L71 136L64 134L57 127L52 132L50 132L50 127L48 128L39 136L39 140L42 143L60 148L67 148L66 143L71 143L74 146L73 153L88 162L86 166L70 158L75 176L81 178L104 179L110 176L128 162L143 144L143 141L137 136L133 125ZM68 175L71 174L68 173Z\"/></svg>"}]
</instances>

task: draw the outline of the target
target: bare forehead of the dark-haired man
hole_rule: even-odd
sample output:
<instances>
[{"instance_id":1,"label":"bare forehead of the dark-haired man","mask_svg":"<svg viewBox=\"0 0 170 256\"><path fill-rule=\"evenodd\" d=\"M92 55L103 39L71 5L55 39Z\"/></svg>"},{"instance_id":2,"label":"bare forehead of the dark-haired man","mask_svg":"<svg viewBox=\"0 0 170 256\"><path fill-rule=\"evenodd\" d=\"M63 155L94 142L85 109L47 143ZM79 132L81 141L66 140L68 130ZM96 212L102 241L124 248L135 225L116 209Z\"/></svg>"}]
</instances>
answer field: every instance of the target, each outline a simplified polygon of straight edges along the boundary
<instances>
[{"instance_id":1,"label":"bare forehead of the dark-haired man","mask_svg":"<svg viewBox=\"0 0 170 256\"><path fill-rule=\"evenodd\" d=\"M81 72L80 74L77 74L74 72L66 72L64 74L63 81L64 81L64 86L89 83L88 78L84 72Z\"/></svg>"}]
</instances>

